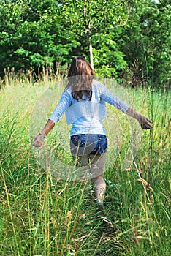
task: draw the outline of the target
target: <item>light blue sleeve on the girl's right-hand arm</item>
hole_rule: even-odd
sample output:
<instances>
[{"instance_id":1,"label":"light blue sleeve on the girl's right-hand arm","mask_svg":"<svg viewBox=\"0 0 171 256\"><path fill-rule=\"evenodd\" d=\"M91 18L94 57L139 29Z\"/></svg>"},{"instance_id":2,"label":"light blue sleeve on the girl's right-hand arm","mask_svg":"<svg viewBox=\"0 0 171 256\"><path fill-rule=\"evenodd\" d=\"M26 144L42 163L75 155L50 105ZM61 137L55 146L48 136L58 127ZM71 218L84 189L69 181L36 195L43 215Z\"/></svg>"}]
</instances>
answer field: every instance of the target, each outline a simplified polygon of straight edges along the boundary
<instances>
[{"instance_id":1,"label":"light blue sleeve on the girl's right-hand arm","mask_svg":"<svg viewBox=\"0 0 171 256\"><path fill-rule=\"evenodd\" d=\"M115 108L118 108L118 110L121 110L123 113L126 113L126 111L129 109L129 105L126 102L123 102L121 99L116 97L103 85L101 91L101 99L104 100L104 102L115 106Z\"/></svg>"}]
</instances>

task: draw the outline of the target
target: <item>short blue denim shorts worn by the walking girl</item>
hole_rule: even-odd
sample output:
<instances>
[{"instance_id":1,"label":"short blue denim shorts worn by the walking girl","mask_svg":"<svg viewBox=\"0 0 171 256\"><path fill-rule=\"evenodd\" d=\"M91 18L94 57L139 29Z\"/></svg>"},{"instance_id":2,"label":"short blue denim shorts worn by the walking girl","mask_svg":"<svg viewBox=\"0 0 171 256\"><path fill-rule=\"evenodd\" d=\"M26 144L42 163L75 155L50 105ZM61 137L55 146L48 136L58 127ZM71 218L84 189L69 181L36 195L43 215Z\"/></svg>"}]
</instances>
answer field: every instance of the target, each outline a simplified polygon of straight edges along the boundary
<instances>
[{"instance_id":1,"label":"short blue denim shorts worn by the walking girl","mask_svg":"<svg viewBox=\"0 0 171 256\"><path fill-rule=\"evenodd\" d=\"M70 139L70 150L74 156L104 154L107 152L107 136L96 134L72 135Z\"/></svg>"}]
</instances>

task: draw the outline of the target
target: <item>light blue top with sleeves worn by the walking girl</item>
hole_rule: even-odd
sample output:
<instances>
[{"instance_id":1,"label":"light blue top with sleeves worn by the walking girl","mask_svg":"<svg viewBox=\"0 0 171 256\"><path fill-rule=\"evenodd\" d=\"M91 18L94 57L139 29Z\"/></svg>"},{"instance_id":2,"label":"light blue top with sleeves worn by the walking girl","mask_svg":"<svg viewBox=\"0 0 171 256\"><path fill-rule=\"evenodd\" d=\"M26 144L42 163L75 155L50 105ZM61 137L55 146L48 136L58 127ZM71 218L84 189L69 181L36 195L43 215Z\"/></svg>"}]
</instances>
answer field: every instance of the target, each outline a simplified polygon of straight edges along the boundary
<instances>
[{"instance_id":1,"label":"light blue top with sleeves worn by the walking girl","mask_svg":"<svg viewBox=\"0 0 171 256\"><path fill-rule=\"evenodd\" d=\"M62 93L61 99L49 119L56 124L63 113L66 113L67 124L72 124L71 136L78 134L106 135L102 124L102 118L106 117L105 102L115 106L123 113L126 113L129 108L126 102L118 99L106 86L96 80L92 84L91 101L77 101L72 97L72 89L69 87Z\"/></svg>"}]
</instances>

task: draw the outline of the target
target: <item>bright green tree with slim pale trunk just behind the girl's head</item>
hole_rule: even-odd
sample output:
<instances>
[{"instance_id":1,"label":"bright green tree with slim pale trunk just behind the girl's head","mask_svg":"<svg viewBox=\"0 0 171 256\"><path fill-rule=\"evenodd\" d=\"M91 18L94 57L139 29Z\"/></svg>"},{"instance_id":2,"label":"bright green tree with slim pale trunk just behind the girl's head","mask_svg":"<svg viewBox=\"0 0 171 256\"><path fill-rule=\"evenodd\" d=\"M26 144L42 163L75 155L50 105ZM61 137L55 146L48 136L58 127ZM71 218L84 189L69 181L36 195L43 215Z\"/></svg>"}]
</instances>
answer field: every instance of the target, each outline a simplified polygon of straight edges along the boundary
<instances>
[{"instance_id":1,"label":"bright green tree with slim pale trunk just behind the girl's head","mask_svg":"<svg viewBox=\"0 0 171 256\"><path fill-rule=\"evenodd\" d=\"M91 66L98 75L116 76L126 67L124 54L118 49L115 34L126 23L125 1L67 1L61 15L68 17L80 48L77 52L90 55ZM94 63L93 63L94 57ZM117 62L117 64L116 64Z\"/></svg>"}]
</instances>

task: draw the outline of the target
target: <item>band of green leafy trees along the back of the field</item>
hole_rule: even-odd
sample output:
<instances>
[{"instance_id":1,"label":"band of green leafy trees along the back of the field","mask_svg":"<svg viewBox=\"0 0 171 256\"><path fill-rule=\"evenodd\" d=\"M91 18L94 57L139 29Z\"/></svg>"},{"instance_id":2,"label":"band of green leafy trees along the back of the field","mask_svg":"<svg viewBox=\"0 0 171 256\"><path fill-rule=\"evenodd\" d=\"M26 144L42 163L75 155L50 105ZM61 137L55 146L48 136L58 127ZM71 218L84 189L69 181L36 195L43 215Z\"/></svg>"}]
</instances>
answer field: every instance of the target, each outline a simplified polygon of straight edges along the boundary
<instances>
[{"instance_id":1,"label":"band of green leafy trees along the back of the field","mask_svg":"<svg viewBox=\"0 0 171 256\"><path fill-rule=\"evenodd\" d=\"M170 20L169 0L0 0L1 79L63 73L75 55L90 60L92 49L96 75L166 86Z\"/></svg>"}]
</instances>

